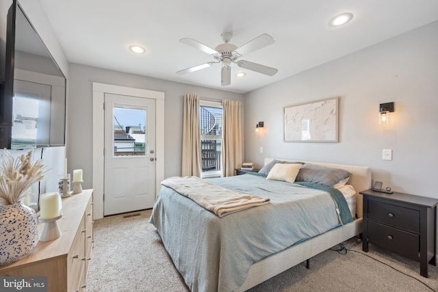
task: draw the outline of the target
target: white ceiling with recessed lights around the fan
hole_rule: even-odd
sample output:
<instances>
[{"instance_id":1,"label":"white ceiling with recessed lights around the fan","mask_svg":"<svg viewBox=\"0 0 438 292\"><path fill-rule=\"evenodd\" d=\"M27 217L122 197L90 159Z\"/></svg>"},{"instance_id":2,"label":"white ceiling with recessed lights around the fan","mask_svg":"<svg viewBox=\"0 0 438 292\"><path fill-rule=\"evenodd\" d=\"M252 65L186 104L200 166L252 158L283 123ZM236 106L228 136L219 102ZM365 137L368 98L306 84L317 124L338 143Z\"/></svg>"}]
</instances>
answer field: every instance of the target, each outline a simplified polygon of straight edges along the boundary
<instances>
[{"instance_id":1,"label":"white ceiling with recessed lights around the fan","mask_svg":"<svg viewBox=\"0 0 438 292\"><path fill-rule=\"evenodd\" d=\"M298 72L438 21L437 0L40 0L69 62L245 93ZM329 27L342 12L354 14ZM240 47L261 34L274 44L240 59L278 68L273 77L232 64L231 85L220 86L220 65L175 72L214 57L179 41L208 47L233 34ZM146 53L135 55L129 45ZM235 77L235 72L246 72Z\"/></svg>"}]
</instances>

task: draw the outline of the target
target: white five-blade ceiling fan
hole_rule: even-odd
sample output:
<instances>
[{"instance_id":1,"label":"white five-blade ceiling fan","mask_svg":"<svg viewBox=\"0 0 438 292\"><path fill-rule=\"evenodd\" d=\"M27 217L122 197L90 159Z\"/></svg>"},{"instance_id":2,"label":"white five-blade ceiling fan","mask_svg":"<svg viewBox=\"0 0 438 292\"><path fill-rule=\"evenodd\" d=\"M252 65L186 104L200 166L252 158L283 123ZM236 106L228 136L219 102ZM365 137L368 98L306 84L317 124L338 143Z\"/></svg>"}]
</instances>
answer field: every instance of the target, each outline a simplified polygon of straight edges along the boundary
<instances>
[{"instance_id":1,"label":"white five-blade ceiling fan","mask_svg":"<svg viewBox=\"0 0 438 292\"><path fill-rule=\"evenodd\" d=\"M258 49L268 46L269 44L273 44L274 38L272 38L272 36L268 34L261 34L260 36L257 36L257 38L255 38L254 40L250 40L241 47L237 47L229 42L233 34L229 32L224 32L220 36L222 37L224 43L219 44L215 49L211 49L205 44L202 44L201 42L198 42L197 40L194 40L192 38L181 38L181 42L183 42L184 44L188 44L189 46L192 46L196 49L200 49L204 53L212 55L216 61L207 62L205 64L180 70L177 72L177 74L184 75L186 73L201 70L203 68L208 68L209 66L220 63L222 64L220 85L224 86L231 84L231 63L235 63L241 68L245 68L269 76L275 75L278 71L276 68L239 59L243 55L253 53L253 51L257 51Z\"/></svg>"}]
</instances>

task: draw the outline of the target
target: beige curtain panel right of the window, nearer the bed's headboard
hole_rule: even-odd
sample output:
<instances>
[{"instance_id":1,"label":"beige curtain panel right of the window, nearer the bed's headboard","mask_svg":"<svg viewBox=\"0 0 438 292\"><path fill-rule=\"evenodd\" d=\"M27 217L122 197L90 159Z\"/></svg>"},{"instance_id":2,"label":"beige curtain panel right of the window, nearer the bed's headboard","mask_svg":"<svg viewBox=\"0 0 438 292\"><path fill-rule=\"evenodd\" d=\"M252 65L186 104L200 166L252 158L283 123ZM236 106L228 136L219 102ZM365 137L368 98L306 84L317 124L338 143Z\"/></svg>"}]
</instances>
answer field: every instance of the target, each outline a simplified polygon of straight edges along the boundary
<instances>
[{"instance_id":1,"label":"beige curtain panel right of the window, nearer the bed's headboard","mask_svg":"<svg viewBox=\"0 0 438 292\"><path fill-rule=\"evenodd\" d=\"M222 176L233 176L242 165L242 127L240 101L222 101L224 109L222 133Z\"/></svg>"}]
</instances>

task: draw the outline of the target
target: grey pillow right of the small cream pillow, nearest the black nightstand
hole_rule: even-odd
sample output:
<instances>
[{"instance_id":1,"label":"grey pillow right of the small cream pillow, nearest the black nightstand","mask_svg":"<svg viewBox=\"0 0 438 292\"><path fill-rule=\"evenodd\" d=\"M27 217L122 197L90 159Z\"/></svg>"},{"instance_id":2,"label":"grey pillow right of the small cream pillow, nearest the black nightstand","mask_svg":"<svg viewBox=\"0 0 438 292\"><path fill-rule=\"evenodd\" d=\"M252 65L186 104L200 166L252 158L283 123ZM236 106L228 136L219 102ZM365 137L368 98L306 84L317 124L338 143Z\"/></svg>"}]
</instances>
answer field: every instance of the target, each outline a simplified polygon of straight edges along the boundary
<instances>
[{"instance_id":1,"label":"grey pillow right of the small cream pillow, nearest the black nightstand","mask_svg":"<svg viewBox=\"0 0 438 292\"><path fill-rule=\"evenodd\" d=\"M350 175L350 172L339 168L326 168L325 166L305 163L301 166L295 181L319 183L320 185L333 187L333 185Z\"/></svg>"}]
</instances>

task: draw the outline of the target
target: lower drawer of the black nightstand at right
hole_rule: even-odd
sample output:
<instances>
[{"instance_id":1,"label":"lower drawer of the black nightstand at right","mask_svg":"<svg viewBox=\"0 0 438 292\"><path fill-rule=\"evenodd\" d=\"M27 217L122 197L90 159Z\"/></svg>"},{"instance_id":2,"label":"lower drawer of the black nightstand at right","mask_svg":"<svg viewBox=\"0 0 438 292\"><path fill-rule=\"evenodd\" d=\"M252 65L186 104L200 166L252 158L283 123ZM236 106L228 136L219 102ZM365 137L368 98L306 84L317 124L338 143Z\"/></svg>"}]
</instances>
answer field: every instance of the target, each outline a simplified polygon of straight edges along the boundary
<instances>
[{"instance_id":1,"label":"lower drawer of the black nightstand at right","mask_svg":"<svg viewBox=\"0 0 438 292\"><path fill-rule=\"evenodd\" d=\"M368 222L368 241L384 245L402 256L418 261L420 258L420 237L413 233L391 228L375 222Z\"/></svg>"}]
</instances>

